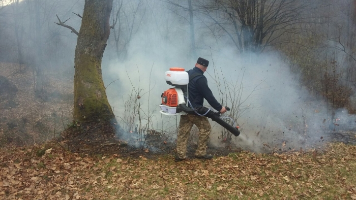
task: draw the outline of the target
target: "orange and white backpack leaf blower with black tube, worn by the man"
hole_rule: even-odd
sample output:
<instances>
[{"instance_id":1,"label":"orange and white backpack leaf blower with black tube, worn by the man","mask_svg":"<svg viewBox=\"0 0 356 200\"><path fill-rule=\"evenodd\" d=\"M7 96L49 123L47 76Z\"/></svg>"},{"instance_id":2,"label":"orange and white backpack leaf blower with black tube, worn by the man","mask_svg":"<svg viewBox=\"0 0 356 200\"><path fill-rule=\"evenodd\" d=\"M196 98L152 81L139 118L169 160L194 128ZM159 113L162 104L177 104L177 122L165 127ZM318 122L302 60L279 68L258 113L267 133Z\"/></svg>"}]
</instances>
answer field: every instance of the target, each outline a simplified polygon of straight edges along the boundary
<instances>
[{"instance_id":1,"label":"orange and white backpack leaf blower with black tube, worn by the man","mask_svg":"<svg viewBox=\"0 0 356 200\"><path fill-rule=\"evenodd\" d=\"M169 88L161 94L162 103L160 105L160 113L163 115L182 115L188 113L205 116L226 128L234 136L239 136L239 126L228 124L223 120L223 117L220 117L220 112L213 112L206 107L192 108L191 105L189 106L188 83L189 80L192 80L194 77L196 77L196 75L189 77L184 68L170 68L169 71L165 73L166 83L174 87ZM230 110L228 107L225 108L227 111Z\"/></svg>"}]
</instances>

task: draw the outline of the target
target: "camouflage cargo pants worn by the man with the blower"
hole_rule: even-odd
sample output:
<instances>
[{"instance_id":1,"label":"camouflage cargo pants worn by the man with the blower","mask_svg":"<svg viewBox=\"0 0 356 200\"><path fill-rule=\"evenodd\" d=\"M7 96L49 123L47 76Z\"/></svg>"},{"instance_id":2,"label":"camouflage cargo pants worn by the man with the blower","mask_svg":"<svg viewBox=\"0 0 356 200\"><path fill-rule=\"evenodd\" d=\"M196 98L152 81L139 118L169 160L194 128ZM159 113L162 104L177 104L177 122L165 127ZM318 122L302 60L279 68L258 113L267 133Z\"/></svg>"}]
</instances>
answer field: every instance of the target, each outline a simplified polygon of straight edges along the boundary
<instances>
[{"instance_id":1,"label":"camouflage cargo pants worn by the man with the blower","mask_svg":"<svg viewBox=\"0 0 356 200\"><path fill-rule=\"evenodd\" d=\"M176 147L177 154L181 159L186 158L188 138L193 124L199 129L199 142L195 155L204 156L206 154L206 143L212 129L207 117L198 115L181 115Z\"/></svg>"}]
</instances>

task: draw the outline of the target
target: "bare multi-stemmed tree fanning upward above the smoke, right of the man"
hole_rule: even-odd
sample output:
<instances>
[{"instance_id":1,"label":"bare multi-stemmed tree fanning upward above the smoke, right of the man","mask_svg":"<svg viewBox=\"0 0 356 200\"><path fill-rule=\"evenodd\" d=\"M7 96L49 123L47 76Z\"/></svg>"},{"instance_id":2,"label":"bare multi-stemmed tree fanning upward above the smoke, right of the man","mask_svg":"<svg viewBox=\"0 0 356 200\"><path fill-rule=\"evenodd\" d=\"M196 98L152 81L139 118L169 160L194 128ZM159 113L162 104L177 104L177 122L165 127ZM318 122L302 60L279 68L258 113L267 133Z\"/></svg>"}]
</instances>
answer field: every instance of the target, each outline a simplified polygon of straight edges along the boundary
<instances>
[{"instance_id":1,"label":"bare multi-stemmed tree fanning upward above the smoke, right of the man","mask_svg":"<svg viewBox=\"0 0 356 200\"><path fill-rule=\"evenodd\" d=\"M216 37L228 35L240 53L261 52L282 43L279 38L296 30L310 3L297 0L217 0L200 2L200 12L209 17Z\"/></svg>"}]
</instances>

